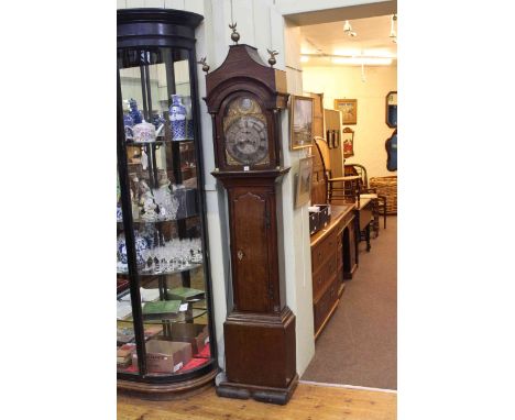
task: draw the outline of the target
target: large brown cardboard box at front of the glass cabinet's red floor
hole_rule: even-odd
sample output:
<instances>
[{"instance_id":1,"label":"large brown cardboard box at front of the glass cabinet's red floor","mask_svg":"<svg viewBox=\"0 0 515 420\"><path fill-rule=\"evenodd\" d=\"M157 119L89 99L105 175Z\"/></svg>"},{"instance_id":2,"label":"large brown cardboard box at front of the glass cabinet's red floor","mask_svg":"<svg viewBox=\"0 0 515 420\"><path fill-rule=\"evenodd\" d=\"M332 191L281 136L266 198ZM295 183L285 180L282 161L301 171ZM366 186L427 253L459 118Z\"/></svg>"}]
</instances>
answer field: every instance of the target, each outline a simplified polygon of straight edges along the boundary
<instances>
[{"instance_id":1,"label":"large brown cardboard box at front of the glass cabinet's red floor","mask_svg":"<svg viewBox=\"0 0 515 420\"><path fill-rule=\"evenodd\" d=\"M149 373L177 372L191 360L191 344L177 341L150 340L146 342L146 369ZM138 366L138 354L132 355Z\"/></svg>"}]
</instances>

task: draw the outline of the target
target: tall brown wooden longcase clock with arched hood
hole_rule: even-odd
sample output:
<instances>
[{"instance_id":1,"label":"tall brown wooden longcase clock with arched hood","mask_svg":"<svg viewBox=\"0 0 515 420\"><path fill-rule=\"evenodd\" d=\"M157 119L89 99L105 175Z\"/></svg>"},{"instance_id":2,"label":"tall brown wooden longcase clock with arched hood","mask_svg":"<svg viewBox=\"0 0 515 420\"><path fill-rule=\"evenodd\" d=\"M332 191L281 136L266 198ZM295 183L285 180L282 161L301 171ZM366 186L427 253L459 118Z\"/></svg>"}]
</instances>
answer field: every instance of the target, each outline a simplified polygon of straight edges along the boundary
<instances>
[{"instance_id":1,"label":"tall brown wooden longcase clock with arched hood","mask_svg":"<svg viewBox=\"0 0 515 420\"><path fill-rule=\"evenodd\" d=\"M269 60L270 63L270 60ZM249 45L232 45L206 76L217 168L228 192L233 308L223 325L226 378L217 393L286 404L298 382L295 316L278 274L276 187L285 73Z\"/></svg>"}]
</instances>

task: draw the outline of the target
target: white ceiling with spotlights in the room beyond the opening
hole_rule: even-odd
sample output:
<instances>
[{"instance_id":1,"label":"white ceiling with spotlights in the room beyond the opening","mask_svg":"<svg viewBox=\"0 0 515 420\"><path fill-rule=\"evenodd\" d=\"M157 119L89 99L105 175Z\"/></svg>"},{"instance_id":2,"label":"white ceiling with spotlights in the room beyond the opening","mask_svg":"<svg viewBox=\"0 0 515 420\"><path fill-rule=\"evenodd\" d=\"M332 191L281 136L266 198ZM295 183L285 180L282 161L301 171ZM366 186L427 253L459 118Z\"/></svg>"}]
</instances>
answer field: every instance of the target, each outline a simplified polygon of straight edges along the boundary
<instances>
[{"instance_id":1,"label":"white ceiling with spotlights in the room beyond the opening","mask_svg":"<svg viewBox=\"0 0 515 420\"><path fill-rule=\"evenodd\" d=\"M394 57L396 65L397 44L390 37L392 15L350 20L357 36L343 32L344 21L300 26L302 53L344 56ZM395 22L395 31L397 25ZM303 66L335 65L330 57L309 57Z\"/></svg>"}]
</instances>

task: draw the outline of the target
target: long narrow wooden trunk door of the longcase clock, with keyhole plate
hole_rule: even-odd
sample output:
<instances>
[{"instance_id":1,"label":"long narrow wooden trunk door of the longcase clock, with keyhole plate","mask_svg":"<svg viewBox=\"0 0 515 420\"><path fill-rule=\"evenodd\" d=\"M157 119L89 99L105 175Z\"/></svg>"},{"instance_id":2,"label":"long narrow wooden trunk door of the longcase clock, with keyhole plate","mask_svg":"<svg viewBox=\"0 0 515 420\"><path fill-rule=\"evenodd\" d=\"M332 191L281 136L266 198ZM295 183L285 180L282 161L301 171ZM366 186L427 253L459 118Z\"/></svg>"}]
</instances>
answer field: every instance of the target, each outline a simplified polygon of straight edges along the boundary
<instances>
[{"instance_id":1,"label":"long narrow wooden trunk door of the longcase clock, with keyhole plate","mask_svg":"<svg viewBox=\"0 0 515 420\"><path fill-rule=\"evenodd\" d=\"M237 189L232 200L234 306L239 311L271 310L270 201L267 194Z\"/></svg>"}]
</instances>

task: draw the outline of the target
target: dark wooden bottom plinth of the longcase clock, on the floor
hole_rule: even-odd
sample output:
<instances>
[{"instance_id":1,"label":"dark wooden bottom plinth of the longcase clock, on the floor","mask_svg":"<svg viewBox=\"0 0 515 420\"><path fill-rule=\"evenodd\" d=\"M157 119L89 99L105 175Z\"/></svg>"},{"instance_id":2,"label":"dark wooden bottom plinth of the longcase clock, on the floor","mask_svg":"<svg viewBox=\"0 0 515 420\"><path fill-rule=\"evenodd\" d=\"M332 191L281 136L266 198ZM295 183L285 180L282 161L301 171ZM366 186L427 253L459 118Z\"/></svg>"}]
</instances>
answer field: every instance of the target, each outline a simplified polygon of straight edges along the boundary
<instances>
[{"instance_id":1,"label":"dark wooden bottom plinth of the longcase clock, on the floor","mask_svg":"<svg viewBox=\"0 0 515 420\"><path fill-rule=\"evenodd\" d=\"M255 399L260 402L276 404L284 406L289 401L297 387L298 375L291 380L286 388L272 388L258 385L237 384L222 382L217 386L217 395L226 398Z\"/></svg>"}]
</instances>

